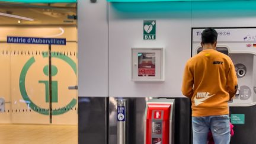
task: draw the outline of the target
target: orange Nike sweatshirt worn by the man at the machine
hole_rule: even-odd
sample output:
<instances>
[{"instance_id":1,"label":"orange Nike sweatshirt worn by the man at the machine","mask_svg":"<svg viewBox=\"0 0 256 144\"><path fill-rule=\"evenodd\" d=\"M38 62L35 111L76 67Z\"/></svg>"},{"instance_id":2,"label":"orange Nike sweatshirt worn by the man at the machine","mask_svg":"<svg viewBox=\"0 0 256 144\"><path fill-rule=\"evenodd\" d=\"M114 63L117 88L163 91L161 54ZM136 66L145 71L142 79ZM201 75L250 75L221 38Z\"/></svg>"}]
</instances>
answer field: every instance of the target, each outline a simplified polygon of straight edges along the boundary
<instances>
[{"instance_id":1,"label":"orange Nike sweatshirt worn by the man at the machine","mask_svg":"<svg viewBox=\"0 0 256 144\"><path fill-rule=\"evenodd\" d=\"M231 58L217 50L203 50L185 65L182 92L191 98L194 117L229 114L237 87Z\"/></svg>"}]
</instances>

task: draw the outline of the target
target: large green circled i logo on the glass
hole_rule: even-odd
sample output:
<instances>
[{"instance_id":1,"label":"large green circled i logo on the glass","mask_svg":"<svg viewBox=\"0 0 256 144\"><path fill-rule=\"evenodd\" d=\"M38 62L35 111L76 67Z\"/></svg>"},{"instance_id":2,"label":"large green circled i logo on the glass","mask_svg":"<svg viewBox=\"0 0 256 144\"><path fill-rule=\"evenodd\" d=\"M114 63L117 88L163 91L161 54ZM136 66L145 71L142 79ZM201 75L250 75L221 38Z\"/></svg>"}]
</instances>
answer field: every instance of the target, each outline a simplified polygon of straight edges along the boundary
<instances>
[{"instance_id":1,"label":"large green circled i logo on the glass","mask_svg":"<svg viewBox=\"0 0 256 144\"><path fill-rule=\"evenodd\" d=\"M48 58L48 55L46 52L43 53L43 57ZM64 62L68 63L68 65L71 66L73 72L76 75L76 63L71 58L69 58L68 56L65 56L65 55L56 55L56 52L52 52L52 57L63 60ZM21 95L22 95L24 101L26 101L28 107L30 107L37 113L49 115L49 110L47 110L47 108L41 108L38 105L34 104L33 101L30 100L30 98L28 97L27 91L25 89L25 78L26 78L28 69L30 69L30 67L33 65L34 62L36 62L36 60L34 59L34 57L31 57L25 63L25 65L23 66L23 69L21 70L20 92L21 92ZM44 66L43 73L44 73L44 75L49 76L49 66L48 65ZM52 76L55 76L55 75L57 75L57 67L55 65L52 65ZM45 90L46 90L45 100L46 100L46 103L49 103L49 81L40 80L39 84L44 84ZM58 102L57 84L58 84L57 81L52 81L52 103ZM52 110L52 114L58 115L58 114L63 114L63 113L68 112L69 110L71 110L71 108L73 108L76 105L76 101L77 100L75 98L73 98L71 100L71 102L68 105L66 105L65 107L59 108L58 110Z\"/></svg>"}]
</instances>

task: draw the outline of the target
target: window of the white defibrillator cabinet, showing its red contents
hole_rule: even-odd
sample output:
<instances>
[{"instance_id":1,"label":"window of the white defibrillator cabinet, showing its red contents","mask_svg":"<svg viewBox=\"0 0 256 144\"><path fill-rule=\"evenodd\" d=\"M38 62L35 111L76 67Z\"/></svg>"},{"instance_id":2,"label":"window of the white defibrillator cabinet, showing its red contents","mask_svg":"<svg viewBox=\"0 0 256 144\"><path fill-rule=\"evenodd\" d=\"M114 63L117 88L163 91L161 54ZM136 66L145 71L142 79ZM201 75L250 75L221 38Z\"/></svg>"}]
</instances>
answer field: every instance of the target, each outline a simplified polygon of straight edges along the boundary
<instances>
[{"instance_id":1,"label":"window of the white defibrillator cabinet, showing its red contents","mask_svg":"<svg viewBox=\"0 0 256 144\"><path fill-rule=\"evenodd\" d=\"M138 76L155 76L155 53L138 53Z\"/></svg>"}]
</instances>

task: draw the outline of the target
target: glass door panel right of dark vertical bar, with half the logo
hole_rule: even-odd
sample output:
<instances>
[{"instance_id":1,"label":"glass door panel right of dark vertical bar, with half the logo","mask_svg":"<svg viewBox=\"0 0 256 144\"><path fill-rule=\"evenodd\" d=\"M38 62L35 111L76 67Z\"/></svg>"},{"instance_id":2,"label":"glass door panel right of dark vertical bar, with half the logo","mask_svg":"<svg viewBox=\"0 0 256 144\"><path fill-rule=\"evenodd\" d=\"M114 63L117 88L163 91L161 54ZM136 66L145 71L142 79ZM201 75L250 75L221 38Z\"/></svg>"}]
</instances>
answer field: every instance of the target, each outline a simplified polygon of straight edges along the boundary
<instances>
[{"instance_id":1,"label":"glass door panel right of dark vertical bar, with half the logo","mask_svg":"<svg viewBox=\"0 0 256 144\"><path fill-rule=\"evenodd\" d=\"M77 43L52 46L52 123L78 123Z\"/></svg>"}]
</instances>

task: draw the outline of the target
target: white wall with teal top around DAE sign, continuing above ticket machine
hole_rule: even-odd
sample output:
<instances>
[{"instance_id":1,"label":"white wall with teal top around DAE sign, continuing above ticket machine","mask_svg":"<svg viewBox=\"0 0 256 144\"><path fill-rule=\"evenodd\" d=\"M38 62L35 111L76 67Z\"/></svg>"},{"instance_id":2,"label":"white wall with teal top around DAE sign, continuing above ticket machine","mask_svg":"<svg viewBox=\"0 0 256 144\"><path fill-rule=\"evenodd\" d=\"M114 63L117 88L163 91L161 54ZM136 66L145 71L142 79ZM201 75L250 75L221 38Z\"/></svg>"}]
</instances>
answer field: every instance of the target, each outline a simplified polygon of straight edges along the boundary
<instances>
[{"instance_id":1,"label":"white wall with teal top around DAE sign, continuing above ticket machine","mask_svg":"<svg viewBox=\"0 0 256 144\"><path fill-rule=\"evenodd\" d=\"M110 3L110 97L183 97L191 27L255 27L255 1ZM143 20L156 20L156 40L143 40ZM132 47L165 48L165 81L131 81Z\"/></svg>"}]
</instances>

